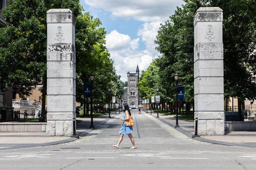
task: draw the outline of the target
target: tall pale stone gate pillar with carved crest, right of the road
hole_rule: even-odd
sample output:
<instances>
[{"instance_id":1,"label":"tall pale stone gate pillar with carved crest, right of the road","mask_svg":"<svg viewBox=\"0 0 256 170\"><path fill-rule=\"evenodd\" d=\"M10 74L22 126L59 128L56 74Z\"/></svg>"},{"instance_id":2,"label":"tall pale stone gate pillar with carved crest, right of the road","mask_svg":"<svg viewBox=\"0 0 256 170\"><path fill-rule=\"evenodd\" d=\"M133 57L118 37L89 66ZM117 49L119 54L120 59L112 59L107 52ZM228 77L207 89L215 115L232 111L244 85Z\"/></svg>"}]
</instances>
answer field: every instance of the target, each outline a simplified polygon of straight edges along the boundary
<instances>
[{"instance_id":1,"label":"tall pale stone gate pillar with carved crest, right of the road","mask_svg":"<svg viewBox=\"0 0 256 170\"><path fill-rule=\"evenodd\" d=\"M224 135L222 11L219 7L200 7L194 16L198 135Z\"/></svg>"}]
</instances>

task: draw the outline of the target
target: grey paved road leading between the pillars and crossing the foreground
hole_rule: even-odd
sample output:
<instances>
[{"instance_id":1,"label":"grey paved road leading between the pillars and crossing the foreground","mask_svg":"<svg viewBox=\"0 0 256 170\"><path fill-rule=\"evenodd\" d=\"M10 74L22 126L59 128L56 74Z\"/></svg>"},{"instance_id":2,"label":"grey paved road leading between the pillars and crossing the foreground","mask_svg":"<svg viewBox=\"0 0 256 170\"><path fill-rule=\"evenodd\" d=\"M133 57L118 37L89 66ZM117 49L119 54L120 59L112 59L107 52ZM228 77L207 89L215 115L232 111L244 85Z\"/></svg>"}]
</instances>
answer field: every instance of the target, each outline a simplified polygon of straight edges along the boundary
<instances>
[{"instance_id":1,"label":"grey paved road leading between the pillars and crossing the foreground","mask_svg":"<svg viewBox=\"0 0 256 170\"><path fill-rule=\"evenodd\" d=\"M0 151L0 169L256 169L256 149L214 145L188 138L152 116L133 112L137 122L131 150L118 115L68 143Z\"/></svg>"}]
</instances>

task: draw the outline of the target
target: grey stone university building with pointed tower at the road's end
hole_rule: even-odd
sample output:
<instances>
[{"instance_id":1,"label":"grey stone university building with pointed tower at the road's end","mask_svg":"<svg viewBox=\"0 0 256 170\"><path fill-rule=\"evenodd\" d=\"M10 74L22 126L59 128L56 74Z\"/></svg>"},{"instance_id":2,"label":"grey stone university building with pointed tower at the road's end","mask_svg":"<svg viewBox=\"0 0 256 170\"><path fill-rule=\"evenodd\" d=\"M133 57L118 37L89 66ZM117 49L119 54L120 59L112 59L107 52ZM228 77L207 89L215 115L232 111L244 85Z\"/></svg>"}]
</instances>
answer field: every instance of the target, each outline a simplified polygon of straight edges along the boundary
<instances>
[{"instance_id":1,"label":"grey stone university building with pointed tower at the road's end","mask_svg":"<svg viewBox=\"0 0 256 170\"><path fill-rule=\"evenodd\" d=\"M137 65L136 72L127 72L127 87L124 87L123 103L129 104L131 108L136 108L141 104L141 99L139 99L139 92L137 83L140 79L140 70Z\"/></svg>"}]
</instances>

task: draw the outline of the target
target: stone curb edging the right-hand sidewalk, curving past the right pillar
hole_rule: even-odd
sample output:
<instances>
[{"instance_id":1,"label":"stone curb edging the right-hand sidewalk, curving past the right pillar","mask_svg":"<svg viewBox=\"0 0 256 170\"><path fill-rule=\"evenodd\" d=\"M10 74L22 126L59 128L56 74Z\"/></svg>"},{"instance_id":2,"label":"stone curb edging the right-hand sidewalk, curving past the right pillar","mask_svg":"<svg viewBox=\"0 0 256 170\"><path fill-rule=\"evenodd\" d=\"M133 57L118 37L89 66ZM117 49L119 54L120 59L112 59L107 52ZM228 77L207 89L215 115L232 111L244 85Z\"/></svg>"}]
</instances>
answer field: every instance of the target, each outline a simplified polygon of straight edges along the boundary
<instances>
[{"instance_id":1,"label":"stone curb edging the right-hand sidewalk, curving past the right pillar","mask_svg":"<svg viewBox=\"0 0 256 170\"><path fill-rule=\"evenodd\" d=\"M143 111L143 112L144 112L144 111ZM148 114L148 113L145 113L145 114ZM150 115L150 114L148 114L148 115ZM156 118L155 115L150 115L150 116ZM167 121L165 121L165 120L163 120L163 119L161 119L161 118L156 118L156 119L158 119L158 120L160 120L161 122L163 122L163 123L165 123L165 124L171 126L171 127L174 128L175 130L177 130L177 131L183 133L184 135L190 137L191 139L195 139L195 140L202 141L202 142L213 143L213 144L217 144L217 145L239 146L239 145L234 145L233 143L221 142L221 141L217 141L217 140L210 140L210 139L205 139L205 138L202 138L202 137L197 137L197 136L193 135L192 133L190 133L190 132L188 132L188 131L186 131L186 130L184 130L184 129L182 129L182 128L175 128L175 125L173 125L173 124L171 124L171 123L169 123L169 122L167 122ZM241 146L240 146L240 147L241 147Z\"/></svg>"}]
</instances>

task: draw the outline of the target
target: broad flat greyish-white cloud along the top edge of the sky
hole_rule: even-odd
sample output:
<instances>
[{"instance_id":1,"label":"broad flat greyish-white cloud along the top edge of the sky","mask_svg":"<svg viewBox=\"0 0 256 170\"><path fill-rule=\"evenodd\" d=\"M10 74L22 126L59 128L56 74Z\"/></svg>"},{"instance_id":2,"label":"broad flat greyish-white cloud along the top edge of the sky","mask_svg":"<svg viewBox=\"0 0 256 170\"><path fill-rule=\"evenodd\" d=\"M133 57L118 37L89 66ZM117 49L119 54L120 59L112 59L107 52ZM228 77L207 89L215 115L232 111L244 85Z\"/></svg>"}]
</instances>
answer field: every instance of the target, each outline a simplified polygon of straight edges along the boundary
<instances>
[{"instance_id":1,"label":"broad flat greyish-white cloud along the top edge of the sky","mask_svg":"<svg viewBox=\"0 0 256 170\"><path fill-rule=\"evenodd\" d=\"M113 17L133 18L143 22L165 21L182 0L84 0L95 8L102 8Z\"/></svg>"}]
</instances>

